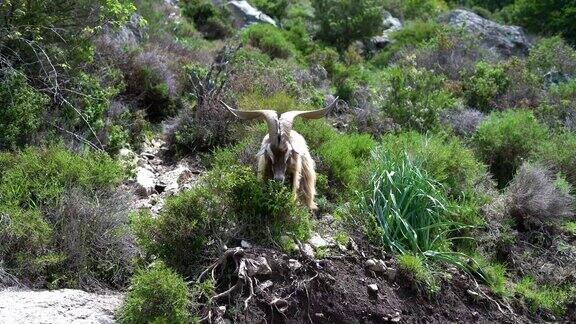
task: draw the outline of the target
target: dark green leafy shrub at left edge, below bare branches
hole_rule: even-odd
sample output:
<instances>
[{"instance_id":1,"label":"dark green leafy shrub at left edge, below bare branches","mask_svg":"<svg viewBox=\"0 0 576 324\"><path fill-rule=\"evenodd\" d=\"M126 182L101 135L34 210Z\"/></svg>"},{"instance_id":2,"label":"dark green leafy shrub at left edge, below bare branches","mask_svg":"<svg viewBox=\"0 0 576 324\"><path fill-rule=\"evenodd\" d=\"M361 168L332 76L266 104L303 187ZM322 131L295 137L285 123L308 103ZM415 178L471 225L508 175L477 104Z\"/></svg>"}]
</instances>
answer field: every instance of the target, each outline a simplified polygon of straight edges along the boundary
<instances>
[{"instance_id":1,"label":"dark green leafy shrub at left edge, below bare branches","mask_svg":"<svg viewBox=\"0 0 576 324\"><path fill-rule=\"evenodd\" d=\"M1 71L0 71L1 72ZM9 72L0 83L0 149L26 143L41 124L48 97L32 88L19 72Z\"/></svg>"}]
</instances>

